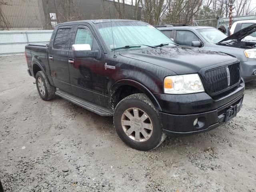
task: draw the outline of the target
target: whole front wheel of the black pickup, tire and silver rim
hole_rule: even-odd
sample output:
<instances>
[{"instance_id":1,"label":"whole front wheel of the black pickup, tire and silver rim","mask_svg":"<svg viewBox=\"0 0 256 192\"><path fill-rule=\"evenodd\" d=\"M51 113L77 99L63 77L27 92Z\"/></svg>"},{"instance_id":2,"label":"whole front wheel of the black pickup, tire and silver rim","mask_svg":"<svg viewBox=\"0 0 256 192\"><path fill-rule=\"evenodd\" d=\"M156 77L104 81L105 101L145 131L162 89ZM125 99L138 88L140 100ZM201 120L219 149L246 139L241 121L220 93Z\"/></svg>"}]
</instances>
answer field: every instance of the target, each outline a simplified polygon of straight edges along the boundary
<instances>
[{"instance_id":1,"label":"whole front wheel of the black pickup, tire and silver rim","mask_svg":"<svg viewBox=\"0 0 256 192\"><path fill-rule=\"evenodd\" d=\"M166 138L158 112L145 94L130 95L117 104L114 127L122 141L137 150L152 150Z\"/></svg>"}]
</instances>

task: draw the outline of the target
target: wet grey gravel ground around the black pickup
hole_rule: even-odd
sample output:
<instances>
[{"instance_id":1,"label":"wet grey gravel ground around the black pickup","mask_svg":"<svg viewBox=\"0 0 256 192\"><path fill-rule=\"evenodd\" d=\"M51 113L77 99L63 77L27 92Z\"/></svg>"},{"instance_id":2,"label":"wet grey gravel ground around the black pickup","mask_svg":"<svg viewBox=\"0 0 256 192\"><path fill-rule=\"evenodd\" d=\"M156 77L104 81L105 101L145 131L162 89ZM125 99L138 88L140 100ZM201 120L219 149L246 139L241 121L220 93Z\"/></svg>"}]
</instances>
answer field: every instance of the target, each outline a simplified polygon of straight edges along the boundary
<instances>
[{"instance_id":1,"label":"wet grey gravel ground around the black pickup","mask_svg":"<svg viewBox=\"0 0 256 192\"><path fill-rule=\"evenodd\" d=\"M6 191L256 192L256 82L210 132L126 146L112 118L40 99L24 56L0 58L0 179Z\"/></svg>"}]
</instances>

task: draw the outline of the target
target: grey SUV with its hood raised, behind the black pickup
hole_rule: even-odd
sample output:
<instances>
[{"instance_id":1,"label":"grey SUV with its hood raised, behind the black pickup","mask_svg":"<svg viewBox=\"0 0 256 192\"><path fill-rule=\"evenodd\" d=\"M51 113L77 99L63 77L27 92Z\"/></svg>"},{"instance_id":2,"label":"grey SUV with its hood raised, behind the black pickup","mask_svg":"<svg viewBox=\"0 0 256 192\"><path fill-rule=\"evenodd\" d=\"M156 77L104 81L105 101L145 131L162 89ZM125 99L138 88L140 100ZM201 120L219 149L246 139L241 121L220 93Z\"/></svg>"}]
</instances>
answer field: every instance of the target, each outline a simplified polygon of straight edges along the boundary
<instances>
[{"instance_id":1,"label":"grey SUV with its hood raised, behind the black pickup","mask_svg":"<svg viewBox=\"0 0 256 192\"><path fill-rule=\"evenodd\" d=\"M156 26L176 44L230 54L239 59L245 82L256 79L256 42L242 41L256 31L256 24L226 36L208 26Z\"/></svg>"}]
</instances>

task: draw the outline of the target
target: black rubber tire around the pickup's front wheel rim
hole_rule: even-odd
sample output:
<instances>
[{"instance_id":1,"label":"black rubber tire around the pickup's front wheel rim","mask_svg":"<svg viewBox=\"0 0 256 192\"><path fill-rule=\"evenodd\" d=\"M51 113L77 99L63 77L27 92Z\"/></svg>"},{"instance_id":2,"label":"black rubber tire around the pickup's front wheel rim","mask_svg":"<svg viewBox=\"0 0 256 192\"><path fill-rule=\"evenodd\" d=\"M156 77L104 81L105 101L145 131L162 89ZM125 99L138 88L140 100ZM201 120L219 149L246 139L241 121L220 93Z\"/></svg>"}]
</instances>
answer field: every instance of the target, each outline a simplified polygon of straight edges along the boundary
<instances>
[{"instance_id":1,"label":"black rubber tire around the pickup's front wheel rim","mask_svg":"<svg viewBox=\"0 0 256 192\"><path fill-rule=\"evenodd\" d=\"M151 136L143 142L133 140L132 138L126 135L123 129L122 117L124 112L130 108L138 108L139 110L142 110L148 115L150 121L152 122L153 129ZM163 133L162 130L162 124L160 122L158 112L154 105L152 104L152 102L150 101L150 99L145 94L133 94L121 100L114 110L113 119L114 127L116 129L118 136L124 143L126 143L128 146L136 150L152 150L158 147L166 138L166 135ZM135 132L133 132L133 134L135 134Z\"/></svg>"}]
</instances>

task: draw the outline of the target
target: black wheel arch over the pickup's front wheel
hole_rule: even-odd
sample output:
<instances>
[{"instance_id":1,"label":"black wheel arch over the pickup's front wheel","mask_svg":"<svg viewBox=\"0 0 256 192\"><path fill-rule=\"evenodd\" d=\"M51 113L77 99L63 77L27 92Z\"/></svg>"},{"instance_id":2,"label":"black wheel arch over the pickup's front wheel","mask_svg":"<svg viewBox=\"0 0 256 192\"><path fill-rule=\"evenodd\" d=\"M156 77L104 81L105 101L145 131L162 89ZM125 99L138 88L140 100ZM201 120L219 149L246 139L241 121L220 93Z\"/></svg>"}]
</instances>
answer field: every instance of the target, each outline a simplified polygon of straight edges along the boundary
<instances>
[{"instance_id":1,"label":"black wheel arch over the pickup's front wheel","mask_svg":"<svg viewBox=\"0 0 256 192\"><path fill-rule=\"evenodd\" d=\"M134 80L130 80L130 79L119 80L112 85L112 87L110 89L110 93L109 93L112 110L114 110L114 108L116 107L118 102L120 100L122 100L122 99L120 99L120 93L122 92L122 88L125 88L126 86L135 88L140 91L140 92L136 92L136 93L146 94L146 96L148 96L148 98L154 104L156 110L161 111L160 104L156 100L156 97L154 96L154 94L143 84L141 84L137 81L134 81ZM132 94L134 94L134 93L132 93ZM129 95L127 95L127 96L129 96Z\"/></svg>"}]
</instances>

